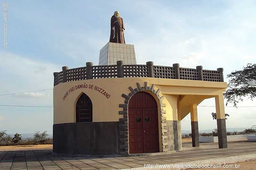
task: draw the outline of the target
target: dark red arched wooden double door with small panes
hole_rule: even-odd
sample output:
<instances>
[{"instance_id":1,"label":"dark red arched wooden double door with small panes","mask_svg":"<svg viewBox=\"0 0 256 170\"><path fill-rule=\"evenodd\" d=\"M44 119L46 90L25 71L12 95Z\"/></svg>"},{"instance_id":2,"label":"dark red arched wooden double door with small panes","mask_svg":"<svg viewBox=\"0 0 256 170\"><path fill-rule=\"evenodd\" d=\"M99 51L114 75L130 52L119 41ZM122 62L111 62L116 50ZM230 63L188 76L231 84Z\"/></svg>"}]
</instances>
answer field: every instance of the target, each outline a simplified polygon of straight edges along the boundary
<instances>
[{"instance_id":1,"label":"dark red arched wooden double door with small panes","mask_svg":"<svg viewBox=\"0 0 256 170\"><path fill-rule=\"evenodd\" d=\"M146 92L135 93L128 104L129 153L159 152L157 103Z\"/></svg>"}]
</instances>

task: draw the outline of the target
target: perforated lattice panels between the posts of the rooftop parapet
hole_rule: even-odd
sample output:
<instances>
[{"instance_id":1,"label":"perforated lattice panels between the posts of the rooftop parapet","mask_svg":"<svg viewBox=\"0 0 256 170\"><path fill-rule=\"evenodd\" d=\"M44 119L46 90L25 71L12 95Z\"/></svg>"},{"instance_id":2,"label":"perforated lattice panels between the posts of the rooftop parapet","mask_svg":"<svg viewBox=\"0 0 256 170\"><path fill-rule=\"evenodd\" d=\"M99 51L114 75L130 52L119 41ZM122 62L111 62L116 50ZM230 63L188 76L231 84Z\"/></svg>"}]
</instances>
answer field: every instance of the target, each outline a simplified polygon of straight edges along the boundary
<instances>
[{"instance_id":1,"label":"perforated lattice panels between the posts of the rooftop parapet","mask_svg":"<svg viewBox=\"0 0 256 170\"><path fill-rule=\"evenodd\" d=\"M148 65L123 65L123 77L149 77ZM203 81L221 81L220 71L201 70L203 72ZM65 73L65 72L64 72ZM179 67L179 73L176 73L175 67L153 66L155 78L175 79L175 74L179 74L183 80L200 80L200 70L194 68ZM86 67L78 67L66 70L66 81L86 80ZM118 74L117 65L92 66L92 79L98 78L116 78ZM87 78L88 79L88 78ZM54 86L65 82L63 71L54 75Z\"/></svg>"}]
</instances>

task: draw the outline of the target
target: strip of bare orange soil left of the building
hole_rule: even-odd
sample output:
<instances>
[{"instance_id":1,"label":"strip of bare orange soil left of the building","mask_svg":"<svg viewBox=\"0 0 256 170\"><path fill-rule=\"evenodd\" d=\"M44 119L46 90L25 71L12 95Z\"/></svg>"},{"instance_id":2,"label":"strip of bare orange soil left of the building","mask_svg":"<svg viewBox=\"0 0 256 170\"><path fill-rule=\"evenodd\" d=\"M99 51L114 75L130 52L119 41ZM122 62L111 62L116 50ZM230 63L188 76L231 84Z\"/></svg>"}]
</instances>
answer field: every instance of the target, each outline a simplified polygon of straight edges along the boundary
<instances>
[{"instance_id":1,"label":"strip of bare orange soil left of the building","mask_svg":"<svg viewBox=\"0 0 256 170\"><path fill-rule=\"evenodd\" d=\"M52 145L0 146L0 151L21 151L21 150L37 150L37 149L52 149Z\"/></svg>"}]
</instances>

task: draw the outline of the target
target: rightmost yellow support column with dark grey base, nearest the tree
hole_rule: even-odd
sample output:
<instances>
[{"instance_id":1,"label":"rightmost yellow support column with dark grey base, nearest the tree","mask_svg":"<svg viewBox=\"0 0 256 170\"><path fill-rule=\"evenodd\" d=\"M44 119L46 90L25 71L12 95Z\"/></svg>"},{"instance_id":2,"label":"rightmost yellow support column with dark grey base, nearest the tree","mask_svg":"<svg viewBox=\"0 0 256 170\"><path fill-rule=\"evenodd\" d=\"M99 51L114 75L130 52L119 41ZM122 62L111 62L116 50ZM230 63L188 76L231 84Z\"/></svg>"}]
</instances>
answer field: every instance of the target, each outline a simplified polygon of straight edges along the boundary
<instances>
[{"instance_id":1,"label":"rightmost yellow support column with dark grey base, nearest the tree","mask_svg":"<svg viewBox=\"0 0 256 170\"><path fill-rule=\"evenodd\" d=\"M219 148L227 148L227 132L223 94L215 96Z\"/></svg>"}]
</instances>

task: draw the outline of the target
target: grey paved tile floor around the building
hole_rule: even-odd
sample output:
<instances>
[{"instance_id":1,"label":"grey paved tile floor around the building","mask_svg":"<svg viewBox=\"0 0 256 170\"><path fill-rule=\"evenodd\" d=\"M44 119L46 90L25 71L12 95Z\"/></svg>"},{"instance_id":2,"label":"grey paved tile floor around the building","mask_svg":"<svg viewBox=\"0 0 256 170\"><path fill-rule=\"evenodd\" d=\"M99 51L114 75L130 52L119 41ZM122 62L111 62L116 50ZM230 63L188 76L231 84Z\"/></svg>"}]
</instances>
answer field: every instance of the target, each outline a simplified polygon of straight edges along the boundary
<instances>
[{"instance_id":1,"label":"grey paved tile floor around the building","mask_svg":"<svg viewBox=\"0 0 256 170\"><path fill-rule=\"evenodd\" d=\"M194 160L213 159L256 153L256 142L229 142L228 148L219 149L218 143L184 143L180 152L126 158L66 158L52 156L52 150L26 150L0 152L0 169L123 169L144 167L144 164L172 164Z\"/></svg>"}]
</instances>

